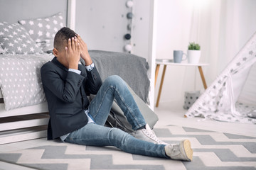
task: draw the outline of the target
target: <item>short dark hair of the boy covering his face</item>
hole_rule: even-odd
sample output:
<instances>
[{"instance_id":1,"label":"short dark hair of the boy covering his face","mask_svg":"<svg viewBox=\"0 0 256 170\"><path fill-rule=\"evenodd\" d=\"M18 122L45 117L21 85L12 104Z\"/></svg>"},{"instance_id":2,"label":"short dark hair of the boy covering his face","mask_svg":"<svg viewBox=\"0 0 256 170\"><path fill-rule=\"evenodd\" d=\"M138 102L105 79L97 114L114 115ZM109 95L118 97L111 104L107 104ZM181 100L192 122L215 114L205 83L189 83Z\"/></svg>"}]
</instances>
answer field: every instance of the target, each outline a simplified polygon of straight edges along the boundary
<instances>
[{"instance_id":1,"label":"short dark hair of the boy covering his face","mask_svg":"<svg viewBox=\"0 0 256 170\"><path fill-rule=\"evenodd\" d=\"M70 28L63 27L56 33L54 37L53 47L57 50L63 50L65 47L64 41L68 44L68 39L75 37L77 34Z\"/></svg>"}]
</instances>

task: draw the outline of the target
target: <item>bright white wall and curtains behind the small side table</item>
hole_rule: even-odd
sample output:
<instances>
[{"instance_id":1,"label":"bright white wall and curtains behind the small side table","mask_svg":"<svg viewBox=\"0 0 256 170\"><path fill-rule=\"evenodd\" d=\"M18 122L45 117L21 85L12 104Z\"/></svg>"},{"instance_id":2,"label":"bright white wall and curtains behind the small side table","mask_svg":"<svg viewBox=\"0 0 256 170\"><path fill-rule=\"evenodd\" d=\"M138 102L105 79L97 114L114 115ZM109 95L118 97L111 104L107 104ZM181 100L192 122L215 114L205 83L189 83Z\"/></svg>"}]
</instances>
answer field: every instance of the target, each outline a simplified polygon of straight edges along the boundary
<instances>
[{"instance_id":1,"label":"bright white wall and curtains behind the small side table","mask_svg":"<svg viewBox=\"0 0 256 170\"><path fill-rule=\"evenodd\" d=\"M186 52L189 41L199 42L201 62L210 64L203 67L209 86L256 31L255 8L254 0L159 0L156 58L172 59L173 50ZM159 107L172 101L182 105L184 91L201 89L198 69L167 67Z\"/></svg>"}]
</instances>

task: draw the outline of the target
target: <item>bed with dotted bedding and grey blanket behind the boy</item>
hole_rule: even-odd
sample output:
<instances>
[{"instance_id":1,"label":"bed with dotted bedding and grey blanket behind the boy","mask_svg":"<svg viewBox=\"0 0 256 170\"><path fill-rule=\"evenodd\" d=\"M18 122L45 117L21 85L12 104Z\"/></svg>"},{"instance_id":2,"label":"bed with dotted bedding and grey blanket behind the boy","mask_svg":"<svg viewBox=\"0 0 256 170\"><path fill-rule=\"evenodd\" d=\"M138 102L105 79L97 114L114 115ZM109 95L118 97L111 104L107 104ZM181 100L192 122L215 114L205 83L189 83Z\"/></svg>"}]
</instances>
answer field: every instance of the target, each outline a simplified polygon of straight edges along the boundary
<instances>
[{"instance_id":1,"label":"bed with dotted bedding and grey blanket behind the boy","mask_svg":"<svg viewBox=\"0 0 256 170\"><path fill-rule=\"evenodd\" d=\"M153 127L158 118L145 104L149 94L146 60L122 52L90 50L89 53L102 80L117 74L127 82L146 122ZM49 115L40 69L53 57L0 55L0 145L46 137ZM122 113L120 109L119 112Z\"/></svg>"}]
</instances>

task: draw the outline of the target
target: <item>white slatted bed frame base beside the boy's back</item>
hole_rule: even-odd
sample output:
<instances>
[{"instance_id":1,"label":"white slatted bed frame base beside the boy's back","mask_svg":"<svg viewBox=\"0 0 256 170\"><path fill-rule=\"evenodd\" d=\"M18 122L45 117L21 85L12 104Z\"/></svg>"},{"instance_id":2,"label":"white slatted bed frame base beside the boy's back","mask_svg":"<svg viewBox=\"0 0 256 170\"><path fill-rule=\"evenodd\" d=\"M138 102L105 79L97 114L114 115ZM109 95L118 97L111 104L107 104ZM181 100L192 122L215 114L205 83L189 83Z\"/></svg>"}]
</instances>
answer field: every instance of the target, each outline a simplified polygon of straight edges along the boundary
<instances>
[{"instance_id":1,"label":"white slatted bed frame base beside the boy's back","mask_svg":"<svg viewBox=\"0 0 256 170\"><path fill-rule=\"evenodd\" d=\"M6 111L0 91L0 145L47 136L47 103Z\"/></svg>"}]
</instances>

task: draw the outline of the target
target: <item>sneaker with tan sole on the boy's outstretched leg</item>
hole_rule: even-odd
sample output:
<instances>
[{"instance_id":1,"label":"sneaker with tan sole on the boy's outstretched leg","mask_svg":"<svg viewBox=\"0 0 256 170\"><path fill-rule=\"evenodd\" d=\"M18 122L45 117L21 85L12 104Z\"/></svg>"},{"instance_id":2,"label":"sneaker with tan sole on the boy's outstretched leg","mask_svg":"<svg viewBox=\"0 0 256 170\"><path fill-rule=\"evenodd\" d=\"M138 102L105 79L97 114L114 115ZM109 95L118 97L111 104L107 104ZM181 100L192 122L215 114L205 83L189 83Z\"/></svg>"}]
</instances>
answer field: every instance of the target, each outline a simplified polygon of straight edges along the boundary
<instances>
[{"instance_id":1,"label":"sneaker with tan sole on the boy's outstretched leg","mask_svg":"<svg viewBox=\"0 0 256 170\"><path fill-rule=\"evenodd\" d=\"M191 142L189 140L183 140L180 144L176 145L166 145L164 149L171 159L179 159L189 162L193 159L193 149L191 149Z\"/></svg>"}]
</instances>

